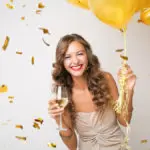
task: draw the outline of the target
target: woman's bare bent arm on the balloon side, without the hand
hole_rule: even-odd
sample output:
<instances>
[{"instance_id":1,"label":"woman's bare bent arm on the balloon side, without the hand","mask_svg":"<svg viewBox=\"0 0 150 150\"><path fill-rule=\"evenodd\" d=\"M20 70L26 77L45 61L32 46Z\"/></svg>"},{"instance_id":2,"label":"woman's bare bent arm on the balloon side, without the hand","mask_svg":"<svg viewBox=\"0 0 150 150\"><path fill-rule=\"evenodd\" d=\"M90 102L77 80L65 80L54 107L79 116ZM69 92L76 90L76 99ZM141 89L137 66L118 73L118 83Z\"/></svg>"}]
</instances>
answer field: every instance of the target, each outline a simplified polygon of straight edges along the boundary
<instances>
[{"instance_id":1,"label":"woman's bare bent arm on the balloon side, without the hand","mask_svg":"<svg viewBox=\"0 0 150 150\"><path fill-rule=\"evenodd\" d=\"M111 92L111 95L113 97L113 100L115 101L119 97L116 82L115 82L114 78L112 77L112 75L109 74L109 73L106 73L106 79L108 80L108 85L109 85L109 88L110 88L110 92ZM126 98L126 95L125 95L125 98ZM131 118L132 118L132 110L133 110L133 105L132 105L133 89L128 90L128 98L129 98L129 100L128 100L129 101L129 103L128 103L128 114L126 114L125 117L126 117L127 122L130 123ZM121 114L116 114L116 116L117 116L117 119L118 119L118 121L121 125L127 126L122 113Z\"/></svg>"}]
</instances>

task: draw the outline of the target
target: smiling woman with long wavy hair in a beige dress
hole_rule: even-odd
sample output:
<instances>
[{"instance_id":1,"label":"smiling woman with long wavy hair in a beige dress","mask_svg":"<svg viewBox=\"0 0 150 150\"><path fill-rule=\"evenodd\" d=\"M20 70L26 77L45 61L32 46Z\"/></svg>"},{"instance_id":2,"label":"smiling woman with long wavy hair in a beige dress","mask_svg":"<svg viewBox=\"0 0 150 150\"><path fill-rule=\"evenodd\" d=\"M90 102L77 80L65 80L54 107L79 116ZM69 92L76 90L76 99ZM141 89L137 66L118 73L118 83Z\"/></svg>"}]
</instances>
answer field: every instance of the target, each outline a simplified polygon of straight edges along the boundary
<instances>
[{"instance_id":1,"label":"smiling woman with long wavy hair in a beige dress","mask_svg":"<svg viewBox=\"0 0 150 150\"><path fill-rule=\"evenodd\" d=\"M129 123L136 77L129 66L126 68ZM55 86L63 85L68 90L66 108L59 108L56 100L50 100L48 108L58 125L59 114L63 113L63 127L67 130L60 131L60 136L68 149L76 150L79 146L79 150L120 150L124 134L118 122L127 124L110 103L118 99L116 83L110 73L101 70L98 58L83 37L70 34L60 39L52 76Z\"/></svg>"}]
</instances>

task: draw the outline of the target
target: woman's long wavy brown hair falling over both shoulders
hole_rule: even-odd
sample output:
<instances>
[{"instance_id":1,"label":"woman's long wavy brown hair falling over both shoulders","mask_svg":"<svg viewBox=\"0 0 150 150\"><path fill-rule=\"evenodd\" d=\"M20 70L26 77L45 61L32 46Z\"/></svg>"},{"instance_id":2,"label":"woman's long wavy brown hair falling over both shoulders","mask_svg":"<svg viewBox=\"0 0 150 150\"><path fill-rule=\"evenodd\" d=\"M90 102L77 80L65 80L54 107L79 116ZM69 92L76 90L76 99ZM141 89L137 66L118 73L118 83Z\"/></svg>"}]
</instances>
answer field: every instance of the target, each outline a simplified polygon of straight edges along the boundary
<instances>
[{"instance_id":1,"label":"woman's long wavy brown hair falling over both shoulders","mask_svg":"<svg viewBox=\"0 0 150 150\"><path fill-rule=\"evenodd\" d=\"M75 120L75 107L72 100L73 80L71 75L64 68L64 57L68 46L74 41L81 43L86 50L88 66L84 72L84 76L87 80L88 89L93 95L93 102L97 106L97 109L101 109L102 106L106 106L104 104L108 104L111 100L105 72L102 71L97 56L92 53L90 44L78 34L68 34L63 36L56 47L56 62L53 64L54 70L52 72L52 77L55 81L55 86L63 85L67 87L69 104L66 109L68 109L71 113L72 121Z\"/></svg>"}]
</instances>

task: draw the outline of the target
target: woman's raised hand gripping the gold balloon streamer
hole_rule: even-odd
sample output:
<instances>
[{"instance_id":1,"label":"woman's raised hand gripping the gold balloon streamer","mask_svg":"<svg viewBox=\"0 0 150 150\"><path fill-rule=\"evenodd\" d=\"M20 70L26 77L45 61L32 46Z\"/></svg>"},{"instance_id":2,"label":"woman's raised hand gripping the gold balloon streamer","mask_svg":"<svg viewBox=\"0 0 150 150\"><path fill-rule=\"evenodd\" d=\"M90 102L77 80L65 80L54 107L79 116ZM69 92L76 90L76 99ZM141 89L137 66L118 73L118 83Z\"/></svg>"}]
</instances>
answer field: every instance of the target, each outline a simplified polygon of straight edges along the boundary
<instances>
[{"instance_id":1,"label":"woman's raised hand gripping the gold balloon streamer","mask_svg":"<svg viewBox=\"0 0 150 150\"><path fill-rule=\"evenodd\" d=\"M122 68L119 69L118 71L118 79L121 78L121 72L122 72ZM126 78L127 89L133 90L136 83L136 75L133 73L131 67L128 64L125 65L125 71L123 74Z\"/></svg>"}]
</instances>

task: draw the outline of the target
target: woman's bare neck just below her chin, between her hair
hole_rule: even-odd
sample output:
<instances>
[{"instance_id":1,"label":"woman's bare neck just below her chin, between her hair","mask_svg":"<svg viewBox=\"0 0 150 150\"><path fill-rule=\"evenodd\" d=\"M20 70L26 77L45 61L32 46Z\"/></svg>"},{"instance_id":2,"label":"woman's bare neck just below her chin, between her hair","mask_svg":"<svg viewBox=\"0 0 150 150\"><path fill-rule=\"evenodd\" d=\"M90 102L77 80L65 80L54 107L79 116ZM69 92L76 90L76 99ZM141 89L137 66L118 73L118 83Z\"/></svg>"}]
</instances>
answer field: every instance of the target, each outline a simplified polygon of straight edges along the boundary
<instances>
[{"instance_id":1,"label":"woman's bare neck just below her chin, between her hair","mask_svg":"<svg viewBox=\"0 0 150 150\"><path fill-rule=\"evenodd\" d=\"M87 82L84 77L74 77L73 78L73 88L85 90L87 89Z\"/></svg>"}]
</instances>

